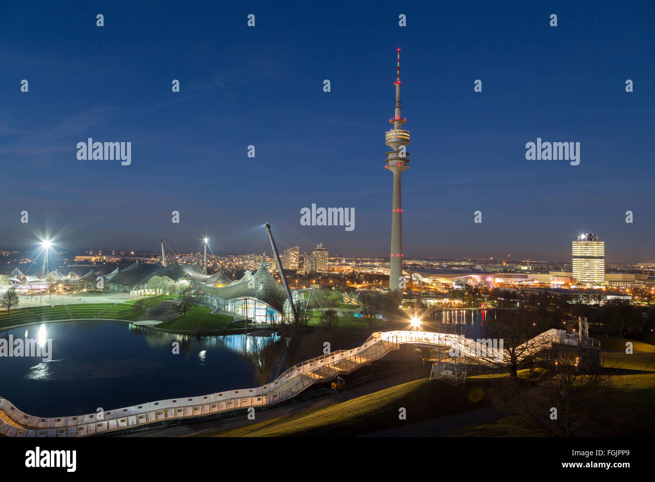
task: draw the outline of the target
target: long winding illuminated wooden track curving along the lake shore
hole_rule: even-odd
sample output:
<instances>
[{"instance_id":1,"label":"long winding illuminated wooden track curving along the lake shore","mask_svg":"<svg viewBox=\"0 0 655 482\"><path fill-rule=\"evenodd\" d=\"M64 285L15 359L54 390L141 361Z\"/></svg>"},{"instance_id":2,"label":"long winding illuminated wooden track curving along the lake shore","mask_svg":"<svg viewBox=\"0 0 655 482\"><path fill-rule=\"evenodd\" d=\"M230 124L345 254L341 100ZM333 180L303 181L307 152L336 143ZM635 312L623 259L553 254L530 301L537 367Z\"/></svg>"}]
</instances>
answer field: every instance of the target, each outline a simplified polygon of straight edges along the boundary
<instances>
[{"instance_id":1,"label":"long winding illuminated wooden track curving along the lake shore","mask_svg":"<svg viewBox=\"0 0 655 482\"><path fill-rule=\"evenodd\" d=\"M536 353L553 342L574 344L574 336L552 329L528 342L526 352ZM472 343L474 347L472 348ZM273 382L257 388L211 393L198 397L159 400L133 407L124 407L84 415L41 418L20 411L0 397L0 433L8 437L84 437L132 430L137 427L160 426L165 421L191 420L220 412L248 407L269 407L291 399L316 382L332 380L340 373L352 372L362 365L381 359L401 344L421 346L458 346L461 353L485 353L485 347L457 334L419 331L376 332L352 350L339 350L299 363L282 373ZM465 348L468 349L465 350ZM475 358L477 355L467 354ZM488 359L488 357L487 357ZM484 361L479 358L478 361Z\"/></svg>"}]
</instances>

